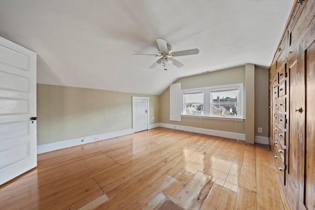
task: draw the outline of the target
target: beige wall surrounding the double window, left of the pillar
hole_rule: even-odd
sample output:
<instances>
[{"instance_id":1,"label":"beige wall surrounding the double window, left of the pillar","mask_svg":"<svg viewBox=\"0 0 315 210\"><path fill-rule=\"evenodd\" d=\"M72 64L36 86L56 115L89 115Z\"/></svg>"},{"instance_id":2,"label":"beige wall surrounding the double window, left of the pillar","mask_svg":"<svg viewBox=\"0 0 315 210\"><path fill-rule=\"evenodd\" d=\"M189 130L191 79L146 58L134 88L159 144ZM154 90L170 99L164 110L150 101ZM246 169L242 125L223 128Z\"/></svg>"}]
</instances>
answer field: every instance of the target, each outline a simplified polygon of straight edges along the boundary
<instances>
[{"instance_id":1,"label":"beige wall surrounding the double window, left of the pillar","mask_svg":"<svg viewBox=\"0 0 315 210\"><path fill-rule=\"evenodd\" d=\"M268 82L268 81L267 81ZM200 87L210 87L218 85L228 85L243 83L245 84L245 66L239 66L220 71L199 74L185 77L174 83L182 83L182 90ZM243 121L236 120L217 120L203 118L182 117L182 121L169 120L169 88L160 95L160 122L200 127L213 130L221 130L235 133L245 133Z\"/></svg>"}]
</instances>

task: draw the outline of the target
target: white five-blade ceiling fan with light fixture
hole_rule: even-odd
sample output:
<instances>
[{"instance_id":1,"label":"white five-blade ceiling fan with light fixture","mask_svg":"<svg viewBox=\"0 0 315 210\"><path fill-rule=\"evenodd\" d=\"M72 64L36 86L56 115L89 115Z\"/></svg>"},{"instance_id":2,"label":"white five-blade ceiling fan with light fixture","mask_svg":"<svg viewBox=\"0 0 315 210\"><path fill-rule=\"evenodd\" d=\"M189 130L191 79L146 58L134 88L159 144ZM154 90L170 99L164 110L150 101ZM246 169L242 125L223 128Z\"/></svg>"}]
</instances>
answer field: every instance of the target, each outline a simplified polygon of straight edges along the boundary
<instances>
[{"instance_id":1,"label":"white five-blade ceiling fan with light fixture","mask_svg":"<svg viewBox=\"0 0 315 210\"><path fill-rule=\"evenodd\" d=\"M184 66L183 63L174 59L173 57L196 55L199 53L198 49L190 49L190 50L173 52L172 46L170 44L168 44L164 39L157 39L157 42L158 42L158 55L155 55L155 54L133 54L132 56L161 57L156 62L154 62L149 68L155 68L159 64L159 65L164 67L164 70L167 70L167 66L170 64L173 64L178 68L181 68Z\"/></svg>"}]
</instances>

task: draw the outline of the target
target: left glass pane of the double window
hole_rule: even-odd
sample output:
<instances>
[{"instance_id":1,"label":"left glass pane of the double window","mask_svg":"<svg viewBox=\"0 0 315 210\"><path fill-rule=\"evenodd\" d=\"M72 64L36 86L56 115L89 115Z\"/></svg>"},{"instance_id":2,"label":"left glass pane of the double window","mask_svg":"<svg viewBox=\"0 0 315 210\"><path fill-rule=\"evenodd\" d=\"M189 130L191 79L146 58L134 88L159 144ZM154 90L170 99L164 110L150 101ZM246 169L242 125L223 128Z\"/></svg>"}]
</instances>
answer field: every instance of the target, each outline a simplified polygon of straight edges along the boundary
<instances>
[{"instance_id":1,"label":"left glass pane of the double window","mask_svg":"<svg viewBox=\"0 0 315 210\"><path fill-rule=\"evenodd\" d=\"M203 115L203 92L184 93L184 114Z\"/></svg>"}]
</instances>

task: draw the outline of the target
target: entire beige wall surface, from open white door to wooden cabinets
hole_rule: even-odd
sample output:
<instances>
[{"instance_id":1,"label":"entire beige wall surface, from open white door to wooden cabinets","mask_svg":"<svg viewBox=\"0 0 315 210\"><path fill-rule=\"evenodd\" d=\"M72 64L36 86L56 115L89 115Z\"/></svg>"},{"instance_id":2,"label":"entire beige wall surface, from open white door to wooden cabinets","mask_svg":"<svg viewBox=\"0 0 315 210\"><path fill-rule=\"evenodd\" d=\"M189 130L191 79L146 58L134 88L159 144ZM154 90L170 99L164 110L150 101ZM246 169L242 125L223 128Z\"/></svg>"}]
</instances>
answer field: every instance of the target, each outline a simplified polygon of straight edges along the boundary
<instances>
[{"instance_id":1,"label":"entire beige wall surface, from open white door to wooden cabinets","mask_svg":"<svg viewBox=\"0 0 315 210\"><path fill-rule=\"evenodd\" d=\"M254 132L268 137L268 69L255 66L254 75ZM245 84L245 66L185 77L174 83L178 82L182 89ZM164 122L245 133L244 121L185 117L181 122L170 121L169 88L157 96L37 84L37 144L132 128L132 96L150 97L150 124ZM257 133L258 127L262 127L262 133Z\"/></svg>"}]
</instances>

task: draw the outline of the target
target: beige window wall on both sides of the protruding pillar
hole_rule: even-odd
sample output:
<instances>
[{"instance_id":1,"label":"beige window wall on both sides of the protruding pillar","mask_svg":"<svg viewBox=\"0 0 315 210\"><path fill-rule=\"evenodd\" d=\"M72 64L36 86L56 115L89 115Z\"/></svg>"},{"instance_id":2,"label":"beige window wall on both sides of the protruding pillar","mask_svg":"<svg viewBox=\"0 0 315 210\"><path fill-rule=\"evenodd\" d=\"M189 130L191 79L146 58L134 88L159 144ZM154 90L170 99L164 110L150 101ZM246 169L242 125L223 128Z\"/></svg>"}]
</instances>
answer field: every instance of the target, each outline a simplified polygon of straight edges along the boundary
<instances>
[{"instance_id":1,"label":"beige window wall on both sides of the protruding pillar","mask_svg":"<svg viewBox=\"0 0 315 210\"><path fill-rule=\"evenodd\" d=\"M255 135L268 137L268 69L256 67L254 74L255 90ZM245 87L245 65L220 71L181 78L174 83L182 83L182 89L210 87L243 83ZM244 88L244 94L246 95ZM244 97L245 100L246 97ZM191 127L208 128L214 130L245 134L245 121L213 120L202 118L182 117L182 121L169 120L169 88L160 95L160 122L186 125ZM245 103L244 103L245 105ZM244 115L245 115L244 106ZM262 127L263 133L257 133L257 127Z\"/></svg>"}]
</instances>

